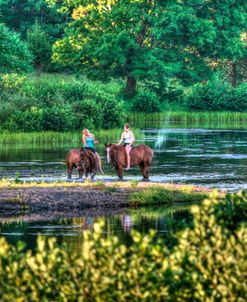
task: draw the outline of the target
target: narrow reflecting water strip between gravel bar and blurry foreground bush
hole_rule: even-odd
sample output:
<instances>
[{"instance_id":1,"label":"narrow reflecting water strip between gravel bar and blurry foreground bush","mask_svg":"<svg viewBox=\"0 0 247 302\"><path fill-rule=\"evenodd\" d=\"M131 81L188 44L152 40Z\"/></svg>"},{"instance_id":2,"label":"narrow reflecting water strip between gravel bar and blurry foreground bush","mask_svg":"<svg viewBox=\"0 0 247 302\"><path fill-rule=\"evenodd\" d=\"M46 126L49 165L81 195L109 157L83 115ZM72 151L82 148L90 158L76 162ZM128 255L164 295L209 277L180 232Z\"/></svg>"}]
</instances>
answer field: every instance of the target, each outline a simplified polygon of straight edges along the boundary
<instances>
[{"instance_id":1,"label":"narrow reflecting water strip between gravel bar and blurry foreground bush","mask_svg":"<svg viewBox=\"0 0 247 302\"><path fill-rule=\"evenodd\" d=\"M191 215L184 207L125 210L112 216L81 215L52 220L44 217L38 221L33 221L31 216L30 220L26 218L0 218L0 236L11 244L24 241L27 248L33 250L39 235L56 237L58 243L65 243L69 249L79 249L83 232L93 231L93 224L99 219L104 221L104 236L115 235L126 245L131 244L131 230L146 234L150 229L156 230L157 236L169 245L173 242L172 234L191 221Z\"/></svg>"}]
</instances>

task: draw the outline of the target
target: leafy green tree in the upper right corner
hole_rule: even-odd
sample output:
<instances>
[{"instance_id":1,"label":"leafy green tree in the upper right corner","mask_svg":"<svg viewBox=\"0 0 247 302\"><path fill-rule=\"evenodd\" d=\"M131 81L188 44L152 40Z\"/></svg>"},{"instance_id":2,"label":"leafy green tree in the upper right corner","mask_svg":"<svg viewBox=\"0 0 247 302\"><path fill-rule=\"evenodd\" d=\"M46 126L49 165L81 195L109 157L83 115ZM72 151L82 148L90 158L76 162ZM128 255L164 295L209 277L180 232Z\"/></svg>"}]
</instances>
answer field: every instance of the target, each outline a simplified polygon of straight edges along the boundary
<instances>
[{"instance_id":1,"label":"leafy green tree in the upper right corner","mask_svg":"<svg viewBox=\"0 0 247 302\"><path fill-rule=\"evenodd\" d=\"M174 1L161 15L159 26L161 39L176 47L187 65L196 66L193 60L203 63L202 75L205 68L210 72L230 62L231 82L236 86L237 62L247 54L245 0Z\"/></svg>"}]
</instances>

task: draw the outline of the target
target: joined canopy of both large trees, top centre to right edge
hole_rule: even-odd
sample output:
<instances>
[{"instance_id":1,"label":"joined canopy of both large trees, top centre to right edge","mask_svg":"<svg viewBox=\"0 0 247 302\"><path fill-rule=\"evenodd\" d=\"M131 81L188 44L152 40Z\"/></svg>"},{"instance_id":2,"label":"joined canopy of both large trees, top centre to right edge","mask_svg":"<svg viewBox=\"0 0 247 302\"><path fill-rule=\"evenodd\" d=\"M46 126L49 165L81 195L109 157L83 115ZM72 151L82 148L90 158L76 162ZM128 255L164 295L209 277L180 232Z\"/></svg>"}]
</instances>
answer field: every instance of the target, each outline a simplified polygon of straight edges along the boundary
<instances>
[{"instance_id":1,"label":"joined canopy of both large trees, top centre to right edge","mask_svg":"<svg viewBox=\"0 0 247 302\"><path fill-rule=\"evenodd\" d=\"M223 62L246 55L246 2L49 0L73 21L56 42L54 59L98 79L126 78L164 87L207 80ZM222 13L224 11L224 13Z\"/></svg>"}]
</instances>

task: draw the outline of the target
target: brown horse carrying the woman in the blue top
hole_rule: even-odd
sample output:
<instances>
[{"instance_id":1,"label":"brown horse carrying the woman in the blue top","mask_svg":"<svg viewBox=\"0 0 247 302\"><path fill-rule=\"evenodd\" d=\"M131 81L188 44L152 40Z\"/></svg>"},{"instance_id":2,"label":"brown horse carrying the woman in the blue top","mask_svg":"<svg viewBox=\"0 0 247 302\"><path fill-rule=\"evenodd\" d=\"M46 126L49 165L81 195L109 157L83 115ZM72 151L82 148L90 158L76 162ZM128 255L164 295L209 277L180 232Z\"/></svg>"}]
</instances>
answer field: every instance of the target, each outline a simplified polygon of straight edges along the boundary
<instances>
[{"instance_id":1,"label":"brown horse carrying the woman in the blue top","mask_svg":"<svg viewBox=\"0 0 247 302\"><path fill-rule=\"evenodd\" d=\"M76 168L79 172L79 178L82 178L83 174L86 177L88 177L88 174L91 174L91 179L93 179L97 171L104 174L98 153L93 153L87 149L70 150L66 157L66 163L68 167L68 179L71 179L73 168Z\"/></svg>"}]
</instances>

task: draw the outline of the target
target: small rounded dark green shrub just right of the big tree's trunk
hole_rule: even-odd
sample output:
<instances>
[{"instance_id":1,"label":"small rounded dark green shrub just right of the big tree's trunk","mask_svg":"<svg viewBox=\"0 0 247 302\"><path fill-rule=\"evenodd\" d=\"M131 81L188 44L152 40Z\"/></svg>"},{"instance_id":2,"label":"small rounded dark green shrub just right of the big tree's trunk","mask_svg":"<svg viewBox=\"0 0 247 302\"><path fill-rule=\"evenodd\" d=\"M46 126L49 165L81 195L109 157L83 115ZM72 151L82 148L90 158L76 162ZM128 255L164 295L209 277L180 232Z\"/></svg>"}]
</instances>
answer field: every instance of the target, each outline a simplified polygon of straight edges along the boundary
<instances>
[{"instance_id":1,"label":"small rounded dark green shrub just right of the big tree's trunk","mask_svg":"<svg viewBox=\"0 0 247 302\"><path fill-rule=\"evenodd\" d=\"M149 90L141 90L131 100L131 111L133 112L160 112L160 101L158 96Z\"/></svg>"}]
</instances>

